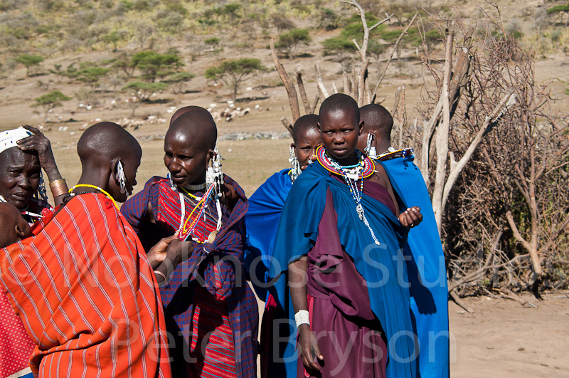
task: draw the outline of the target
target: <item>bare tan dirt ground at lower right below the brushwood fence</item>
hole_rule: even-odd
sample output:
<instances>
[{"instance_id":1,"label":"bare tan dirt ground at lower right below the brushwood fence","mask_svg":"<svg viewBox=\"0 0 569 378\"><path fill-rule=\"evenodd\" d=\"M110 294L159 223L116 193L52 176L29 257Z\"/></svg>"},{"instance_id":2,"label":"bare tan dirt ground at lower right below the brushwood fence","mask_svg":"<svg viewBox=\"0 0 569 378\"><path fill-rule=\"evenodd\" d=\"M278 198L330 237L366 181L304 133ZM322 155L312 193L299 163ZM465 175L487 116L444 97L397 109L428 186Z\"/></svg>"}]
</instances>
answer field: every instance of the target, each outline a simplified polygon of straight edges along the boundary
<instances>
[{"instance_id":1,"label":"bare tan dirt ground at lower right below the brushwood fence","mask_svg":"<svg viewBox=\"0 0 569 378\"><path fill-rule=\"evenodd\" d=\"M523 297L538 308L489 297L465 299L473 314L450 302L450 332L456 340L451 376L569 377L569 295L543 298Z\"/></svg>"}]
</instances>

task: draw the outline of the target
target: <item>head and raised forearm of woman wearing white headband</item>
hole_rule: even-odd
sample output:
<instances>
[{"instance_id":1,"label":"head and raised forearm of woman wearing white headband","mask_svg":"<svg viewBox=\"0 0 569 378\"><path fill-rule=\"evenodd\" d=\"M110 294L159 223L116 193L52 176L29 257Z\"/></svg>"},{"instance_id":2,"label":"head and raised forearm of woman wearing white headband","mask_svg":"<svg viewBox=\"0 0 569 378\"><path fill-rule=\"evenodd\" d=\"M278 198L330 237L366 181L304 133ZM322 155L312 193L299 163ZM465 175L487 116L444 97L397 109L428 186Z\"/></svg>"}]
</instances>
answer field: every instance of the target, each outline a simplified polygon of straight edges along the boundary
<instances>
[{"instance_id":1,"label":"head and raised forearm of woman wearing white headband","mask_svg":"<svg viewBox=\"0 0 569 378\"><path fill-rule=\"evenodd\" d=\"M55 206L68 193L51 145L43 133L28 125L0 132L0 201L16 205L28 222L49 208L42 170L46 172Z\"/></svg>"}]
</instances>

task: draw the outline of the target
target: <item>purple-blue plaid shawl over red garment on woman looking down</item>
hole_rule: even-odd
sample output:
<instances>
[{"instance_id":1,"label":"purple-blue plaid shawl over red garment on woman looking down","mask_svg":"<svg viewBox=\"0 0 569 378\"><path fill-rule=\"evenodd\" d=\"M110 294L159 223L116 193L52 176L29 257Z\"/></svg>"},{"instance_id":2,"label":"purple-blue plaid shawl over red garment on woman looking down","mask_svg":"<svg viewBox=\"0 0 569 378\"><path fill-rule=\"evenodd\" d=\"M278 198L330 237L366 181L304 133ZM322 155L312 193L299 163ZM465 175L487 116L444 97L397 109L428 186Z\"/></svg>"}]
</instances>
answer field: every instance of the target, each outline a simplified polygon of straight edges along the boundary
<instances>
[{"instance_id":1,"label":"purple-blue plaid shawl over red garment on woman looking down","mask_svg":"<svg viewBox=\"0 0 569 378\"><path fill-rule=\"evenodd\" d=\"M171 356L174 357L172 374L175 377L186 376L188 351L186 350L184 355L184 348L187 348L191 340L193 285L201 285L212 295L223 293L227 300L233 331L237 377L256 376L259 314L255 295L245 279L245 268L241 262L245 240L243 216L248 210L248 200L243 189L233 179L228 176L224 179L226 184L235 188L239 196L233 211L228 214L228 219L216 240L213 243L194 243L191 257L176 268L170 276L169 284L161 289L166 328L176 343L171 348ZM162 199L165 198L164 190L171 190L168 185L163 185L167 184L166 180L162 177L152 177L145 184L143 191L122 205L122 214L132 224L147 251L160 238L170 236L179 227L179 223L175 221L171 222L174 224L159 221L153 224L146 216L148 204L150 203L153 209L158 209L159 199L161 196ZM179 201L171 201L169 206L170 210L181 212ZM198 269L192 272L196 263ZM216 281L221 287L216 285Z\"/></svg>"}]
</instances>

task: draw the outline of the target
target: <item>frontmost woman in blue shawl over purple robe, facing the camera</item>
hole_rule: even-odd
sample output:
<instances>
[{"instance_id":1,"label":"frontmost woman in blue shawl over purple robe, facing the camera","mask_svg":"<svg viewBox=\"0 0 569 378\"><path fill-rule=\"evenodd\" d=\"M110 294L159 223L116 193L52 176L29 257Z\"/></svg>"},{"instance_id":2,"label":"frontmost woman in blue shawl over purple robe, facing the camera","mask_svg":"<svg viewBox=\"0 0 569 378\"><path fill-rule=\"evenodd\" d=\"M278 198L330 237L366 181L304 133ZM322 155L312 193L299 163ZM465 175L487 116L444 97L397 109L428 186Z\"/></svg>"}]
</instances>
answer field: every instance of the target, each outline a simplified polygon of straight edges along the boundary
<instances>
[{"instance_id":1,"label":"frontmost woman in blue shawl over purple robe, facing the camera","mask_svg":"<svg viewBox=\"0 0 569 378\"><path fill-rule=\"evenodd\" d=\"M287 377L415 377L400 246L420 209L399 214L383 167L356 150L362 123L351 97L326 99L319 126L319 164L287 197L268 273L298 330L301 358L295 330L279 357Z\"/></svg>"}]
</instances>

